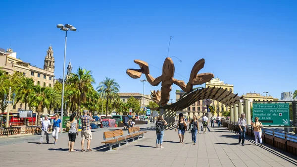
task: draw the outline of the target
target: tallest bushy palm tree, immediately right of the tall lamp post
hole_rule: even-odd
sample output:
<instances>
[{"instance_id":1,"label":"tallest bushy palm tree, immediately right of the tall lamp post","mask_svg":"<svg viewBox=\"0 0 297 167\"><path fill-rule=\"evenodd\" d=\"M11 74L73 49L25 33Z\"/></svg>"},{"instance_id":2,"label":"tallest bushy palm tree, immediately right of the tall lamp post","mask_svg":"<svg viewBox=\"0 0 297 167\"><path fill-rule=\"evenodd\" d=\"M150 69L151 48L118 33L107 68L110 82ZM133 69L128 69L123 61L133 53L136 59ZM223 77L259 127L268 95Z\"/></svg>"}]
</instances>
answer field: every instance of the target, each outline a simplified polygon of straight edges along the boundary
<instances>
[{"instance_id":1,"label":"tallest bushy palm tree, immediately right of the tall lamp post","mask_svg":"<svg viewBox=\"0 0 297 167\"><path fill-rule=\"evenodd\" d=\"M92 84L95 83L95 80L91 75L91 71L78 68L77 74L72 74L67 82L70 84L71 90L73 90L71 97L72 109L76 109L79 116L82 103L87 101L87 93L94 90Z\"/></svg>"}]
</instances>

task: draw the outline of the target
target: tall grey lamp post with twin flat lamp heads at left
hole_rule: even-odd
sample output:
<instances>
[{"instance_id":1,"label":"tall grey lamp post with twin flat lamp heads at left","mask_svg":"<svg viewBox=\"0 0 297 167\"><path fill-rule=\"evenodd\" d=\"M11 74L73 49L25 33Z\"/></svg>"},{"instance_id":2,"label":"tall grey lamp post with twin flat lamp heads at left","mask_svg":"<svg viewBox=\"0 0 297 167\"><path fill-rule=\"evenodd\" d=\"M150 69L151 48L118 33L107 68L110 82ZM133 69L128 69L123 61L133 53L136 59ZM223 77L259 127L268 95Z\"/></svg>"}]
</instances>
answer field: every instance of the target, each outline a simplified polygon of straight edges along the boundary
<instances>
[{"instance_id":1,"label":"tall grey lamp post with twin flat lamp heads at left","mask_svg":"<svg viewBox=\"0 0 297 167\"><path fill-rule=\"evenodd\" d=\"M61 103L61 124L63 128L63 108L64 108L64 85L65 85L65 60L66 60L66 43L67 43L67 31L76 31L76 28L70 24L58 24L57 28L60 28L62 31L66 31L65 35L65 49L64 49L64 64L63 64L63 86L62 86L62 103Z\"/></svg>"}]
</instances>

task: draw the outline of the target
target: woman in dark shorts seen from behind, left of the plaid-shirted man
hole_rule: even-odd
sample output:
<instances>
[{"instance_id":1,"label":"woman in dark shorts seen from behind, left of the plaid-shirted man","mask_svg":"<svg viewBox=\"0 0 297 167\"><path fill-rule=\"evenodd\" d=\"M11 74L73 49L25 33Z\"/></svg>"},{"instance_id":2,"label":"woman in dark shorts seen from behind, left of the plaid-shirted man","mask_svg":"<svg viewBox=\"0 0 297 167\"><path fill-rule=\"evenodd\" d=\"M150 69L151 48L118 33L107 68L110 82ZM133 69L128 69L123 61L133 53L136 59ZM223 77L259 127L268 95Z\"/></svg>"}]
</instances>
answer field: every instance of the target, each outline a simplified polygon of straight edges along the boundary
<instances>
[{"instance_id":1,"label":"woman in dark shorts seen from behind, left of the plaid-shirted man","mask_svg":"<svg viewBox=\"0 0 297 167\"><path fill-rule=\"evenodd\" d=\"M68 147L69 147L69 151L75 151L73 149L73 146L74 146L74 142L75 142L75 139L76 139L76 136L78 136L78 125L77 125L77 120L75 119L76 117L76 113L73 112L70 116L70 119L69 121L71 122L71 125L70 125L70 129L69 129L69 132L68 132Z\"/></svg>"}]
</instances>

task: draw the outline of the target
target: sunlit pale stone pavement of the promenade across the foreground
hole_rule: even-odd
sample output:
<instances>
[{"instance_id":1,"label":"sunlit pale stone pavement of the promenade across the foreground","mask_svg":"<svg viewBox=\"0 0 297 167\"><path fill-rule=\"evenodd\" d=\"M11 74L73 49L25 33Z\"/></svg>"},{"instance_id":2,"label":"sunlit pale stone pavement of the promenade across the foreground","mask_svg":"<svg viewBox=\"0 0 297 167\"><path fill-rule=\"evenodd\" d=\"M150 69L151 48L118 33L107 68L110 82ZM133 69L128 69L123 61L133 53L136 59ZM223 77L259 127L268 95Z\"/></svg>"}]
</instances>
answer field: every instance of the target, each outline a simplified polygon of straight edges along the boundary
<instances>
[{"instance_id":1,"label":"sunlit pale stone pavement of the promenade across the foreground","mask_svg":"<svg viewBox=\"0 0 297 167\"><path fill-rule=\"evenodd\" d=\"M102 128L93 132L92 152L80 152L81 137L75 143L76 152L68 152L67 133L59 134L53 145L38 145L39 136L17 139L0 139L1 167L296 167L297 157L270 146L255 146L251 138L246 145L238 144L238 133L224 127L200 130L197 145L192 144L191 133L185 134L184 144L174 130L165 130L164 149L155 148L153 124L148 127L145 138L115 147L112 151L101 144ZM125 131L125 133L127 133ZM30 138L32 141L29 141ZM13 140L12 144L4 141ZM45 139L44 139L45 141ZM2 143L2 144L1 144ZM86 142L85 142L86 145ZM86 149L86 146L85 146Z\"/></svg>"}]
</instances>

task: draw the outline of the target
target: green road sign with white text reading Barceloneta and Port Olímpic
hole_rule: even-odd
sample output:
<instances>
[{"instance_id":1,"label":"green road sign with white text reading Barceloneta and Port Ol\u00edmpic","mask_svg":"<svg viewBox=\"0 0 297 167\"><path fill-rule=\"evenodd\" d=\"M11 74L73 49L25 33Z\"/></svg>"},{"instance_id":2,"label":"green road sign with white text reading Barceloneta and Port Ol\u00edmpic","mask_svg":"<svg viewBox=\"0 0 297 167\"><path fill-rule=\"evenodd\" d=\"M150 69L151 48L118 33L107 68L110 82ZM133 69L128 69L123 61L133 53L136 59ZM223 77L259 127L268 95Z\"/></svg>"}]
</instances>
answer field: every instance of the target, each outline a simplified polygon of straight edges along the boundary
<instances>
[{"instance_id":1,"label":"green road sign with white text reading Barceloneta and Port Ol\u00edmpic","mask_svg":"<svg viewBox=\"0 0 297 167\"><path fill-rule=\"evenodd\" d=\"M263 125L290 125L289 104L253 104L252 116Z\"/></svg>"}]
</instances>

